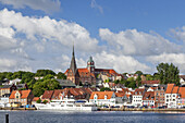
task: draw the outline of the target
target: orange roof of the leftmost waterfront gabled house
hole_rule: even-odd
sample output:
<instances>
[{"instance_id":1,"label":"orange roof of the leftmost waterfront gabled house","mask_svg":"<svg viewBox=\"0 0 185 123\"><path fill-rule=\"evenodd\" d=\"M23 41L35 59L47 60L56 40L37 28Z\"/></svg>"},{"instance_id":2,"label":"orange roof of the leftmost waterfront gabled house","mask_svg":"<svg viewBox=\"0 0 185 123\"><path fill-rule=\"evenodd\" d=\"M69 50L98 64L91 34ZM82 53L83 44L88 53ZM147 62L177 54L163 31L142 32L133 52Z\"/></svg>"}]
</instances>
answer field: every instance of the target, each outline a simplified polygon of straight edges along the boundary
<instances>
[{"instance_id":1,"label":"orange roof of the leftmost waterfront gabled house","mask_svg":"<svg viewBox=\"0 0 185 123\"><path fill-rule=\"evenodd\" d=\"M21 98L27 98L30 94L30 89L28 90L13 90L12 94L10 95L9 99L14 99L15 98L15 94L16 91L18 91L21 94Z\"/></svg>"}]
</instances>

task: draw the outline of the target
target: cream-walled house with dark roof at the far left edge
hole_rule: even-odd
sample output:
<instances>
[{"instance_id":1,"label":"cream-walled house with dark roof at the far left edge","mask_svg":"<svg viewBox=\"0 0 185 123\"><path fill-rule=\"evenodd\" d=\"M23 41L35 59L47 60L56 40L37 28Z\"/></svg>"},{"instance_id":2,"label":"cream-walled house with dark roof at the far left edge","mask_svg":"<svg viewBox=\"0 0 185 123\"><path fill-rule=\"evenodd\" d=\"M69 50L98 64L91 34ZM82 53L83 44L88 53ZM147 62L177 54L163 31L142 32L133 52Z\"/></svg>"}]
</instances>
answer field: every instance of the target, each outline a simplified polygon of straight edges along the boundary
<instances>
[{"instance_id":1,"label":"cream-walled house with dark roof at the far left edge","mask_svg":"<svg viewBox=\"0 0 185 123\"><path fill-rule=\"evenodd\" d=\"M5 94L11 94L12 90L15 90L16 86L13 85L3 85L3 87L0 87L0 97L3 97Z\"/></svg>"}]
</instances>

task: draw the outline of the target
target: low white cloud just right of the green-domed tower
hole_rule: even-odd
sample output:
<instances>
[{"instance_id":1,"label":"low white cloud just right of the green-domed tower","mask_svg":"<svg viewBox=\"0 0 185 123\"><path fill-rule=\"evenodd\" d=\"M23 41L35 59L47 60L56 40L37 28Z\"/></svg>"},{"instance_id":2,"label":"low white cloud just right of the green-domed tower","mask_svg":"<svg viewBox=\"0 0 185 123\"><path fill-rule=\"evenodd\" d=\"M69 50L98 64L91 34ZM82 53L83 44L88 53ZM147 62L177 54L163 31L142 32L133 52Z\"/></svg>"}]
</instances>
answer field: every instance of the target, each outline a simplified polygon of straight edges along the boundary
<instances>
[{"instance_id":1,"label":"low white cloud just right of the green-domed tower","mask_svg":"<svg viewBox=\"0 0 185 123\"><path fill-rule=\"evenodd\" d=\"M102 51L101 53L97 53L94 59L97 67L114 69L120 73L134 73L138 70L143 72L151 71L149 66L128 56L115 56L113 53Z\"/></svg>"}]
</instances>

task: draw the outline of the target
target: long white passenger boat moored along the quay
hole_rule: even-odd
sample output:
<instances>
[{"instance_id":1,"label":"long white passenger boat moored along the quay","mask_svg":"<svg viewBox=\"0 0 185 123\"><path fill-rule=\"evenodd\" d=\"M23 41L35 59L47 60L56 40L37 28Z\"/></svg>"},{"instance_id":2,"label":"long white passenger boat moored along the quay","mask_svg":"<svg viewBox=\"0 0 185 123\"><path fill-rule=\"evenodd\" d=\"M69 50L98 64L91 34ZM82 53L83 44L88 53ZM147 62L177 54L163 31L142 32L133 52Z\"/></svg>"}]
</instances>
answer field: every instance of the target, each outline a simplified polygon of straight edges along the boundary
<instances>
[{"instance_id":1,"label":"long white passenger boat moored along the quay","mask_svg":"<svg viewBox=\"0 0 185 123\"><path fill-rule=\"evenodd\" d=\"M38 110L63 110L63 111L97 111L95 104L90 104L83 100L64 99L52 100L49 103L35 103Z\"/></svg>"}]
</instances>

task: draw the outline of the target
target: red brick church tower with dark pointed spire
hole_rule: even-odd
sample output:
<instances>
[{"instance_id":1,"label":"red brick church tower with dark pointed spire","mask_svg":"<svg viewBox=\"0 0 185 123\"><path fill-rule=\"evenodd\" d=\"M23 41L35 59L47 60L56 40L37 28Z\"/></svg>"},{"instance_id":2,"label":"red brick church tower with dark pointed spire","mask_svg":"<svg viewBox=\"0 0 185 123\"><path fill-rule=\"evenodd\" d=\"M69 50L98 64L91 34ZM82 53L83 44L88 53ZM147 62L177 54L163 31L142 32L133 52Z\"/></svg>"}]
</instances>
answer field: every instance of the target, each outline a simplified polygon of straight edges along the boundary
<instances>
[{"instance_id":1,"label":"red brick church tower with dark pointed spire","mask_svg":"<svg viewBox=\"0 0 185 123\"><path fill-rule=\"evenodd\" d=\"M75 61L74 45L73 45L71 65L70 65L70 70L67 72L66 78L72 81L76 85L79 85L79 73L77 71L76 61Z\"/></svg>"}]
</instances>

